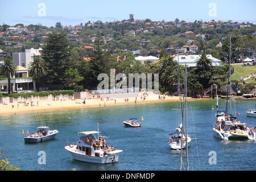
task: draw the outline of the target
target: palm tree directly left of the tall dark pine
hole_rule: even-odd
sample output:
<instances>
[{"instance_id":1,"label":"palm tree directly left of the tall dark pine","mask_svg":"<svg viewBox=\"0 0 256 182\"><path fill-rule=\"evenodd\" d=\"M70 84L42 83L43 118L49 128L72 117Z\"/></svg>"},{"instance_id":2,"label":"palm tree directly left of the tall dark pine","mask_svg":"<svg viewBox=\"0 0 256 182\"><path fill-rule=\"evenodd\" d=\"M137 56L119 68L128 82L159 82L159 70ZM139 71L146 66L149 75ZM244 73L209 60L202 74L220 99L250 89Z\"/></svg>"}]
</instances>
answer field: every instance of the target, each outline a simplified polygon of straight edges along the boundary
<instances>
[{"instance_id":1,"label":"palm tree directly left of the tall dark pine","mask_svg":"<svg viewBox=\"0 0 256 182\"><path fill-rule=\"evenodd\" d=\"M41 57L36 56L33 62L28 65L28 73L36 80L36 86L39 92L40 78L47 75L46 65Z\"/></svg>"}]
</instances>

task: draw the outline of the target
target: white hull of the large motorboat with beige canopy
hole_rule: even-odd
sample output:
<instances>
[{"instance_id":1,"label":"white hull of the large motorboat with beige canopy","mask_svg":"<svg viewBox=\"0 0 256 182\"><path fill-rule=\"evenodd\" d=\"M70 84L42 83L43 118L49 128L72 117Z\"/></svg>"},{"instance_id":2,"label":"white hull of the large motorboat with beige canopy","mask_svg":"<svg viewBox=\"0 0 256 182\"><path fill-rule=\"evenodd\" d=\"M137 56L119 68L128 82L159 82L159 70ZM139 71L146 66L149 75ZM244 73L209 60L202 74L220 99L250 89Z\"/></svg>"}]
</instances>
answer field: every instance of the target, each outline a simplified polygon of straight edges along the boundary
<instances>
[{"instance_id":1,"label":"white hull of the large motorboat with beige canopy","mask_svg":"<svg viewBox=\"0 0 256 182\"><path fill-rule=\"evenodd\" d=\"M96 156L88 156L84 154L77 154L76 152L72 151L72 148L69 146L65 146L65 150L67 150L75 160L79 160L81 162L87 163L97 163L97 164L108 164L108 163L115 163L118 162L118 155L107 155L105 157L96 157Z\"/></svg>"}]
</instances>

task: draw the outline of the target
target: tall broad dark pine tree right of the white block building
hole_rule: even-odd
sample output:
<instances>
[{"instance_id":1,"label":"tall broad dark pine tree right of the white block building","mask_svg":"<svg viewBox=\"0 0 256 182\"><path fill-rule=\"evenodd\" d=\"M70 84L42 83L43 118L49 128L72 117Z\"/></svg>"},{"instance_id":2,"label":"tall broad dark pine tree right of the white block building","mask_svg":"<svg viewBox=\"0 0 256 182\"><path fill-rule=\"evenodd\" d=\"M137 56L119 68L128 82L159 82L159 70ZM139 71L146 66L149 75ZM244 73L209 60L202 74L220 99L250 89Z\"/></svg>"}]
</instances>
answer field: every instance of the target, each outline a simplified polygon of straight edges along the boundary
<instances>
[{"instance_id":1,"label":"tall broad dark pine tree right of the white block building","mask_svg":"<svg viewBox=\"0 0 256 182\"><path fill-rule=\"evenodd\" d=\"M49 84L63 84L65 70L70 59L69 40L64 33L49 34L46 44L42 47L42 58L46 62Z\"/></svg>"}]
</instances>

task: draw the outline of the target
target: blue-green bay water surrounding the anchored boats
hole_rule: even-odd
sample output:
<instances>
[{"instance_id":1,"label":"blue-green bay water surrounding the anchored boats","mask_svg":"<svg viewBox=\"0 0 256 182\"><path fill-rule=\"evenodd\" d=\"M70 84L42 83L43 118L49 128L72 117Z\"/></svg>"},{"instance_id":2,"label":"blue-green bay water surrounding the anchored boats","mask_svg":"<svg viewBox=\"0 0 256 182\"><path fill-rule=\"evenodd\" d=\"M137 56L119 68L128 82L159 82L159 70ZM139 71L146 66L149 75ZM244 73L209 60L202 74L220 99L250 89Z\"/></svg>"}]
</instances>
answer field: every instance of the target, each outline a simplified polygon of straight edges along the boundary
<instances>
[{"instance_id":1,"label":"blue-green bay water surrounding the anchored boats","mask_svg":"<svg viewBox=\"0 0 256 182\"><path fill-rule=\"evenodd\" d=\"M247 118L245 109L255 105L253 100L237 100L240 121L256 126L255 118ZM188 102L189 167L191 170L255 170L256 143L249 140L223 142L213 137L212 126L216 109L214 100ZM225 100L219 100L224 109ZM72 110L36 112L38 121L59 130L56 138L43 143L25 144L27 130L36 131L33 113L0 116L0 149L11 164L22 170L179 170L180 151L171 150L168 137L177 127L178 102L90 107ZM122 121L144 118L141 128L124 127ZM77 132L97 130L100 124L107 142L123 152L119 162L90 164L72 159L64 150L67 142L77 141ZM24 134L22 134L22 129ZM46 164L38 164L39 151L46 152ZM217 164L209 164L210 151L216 152ZM183 152L185 156L185 151ZM186 159L183 158L184 167Z\"/></svg>"}]
</instances>

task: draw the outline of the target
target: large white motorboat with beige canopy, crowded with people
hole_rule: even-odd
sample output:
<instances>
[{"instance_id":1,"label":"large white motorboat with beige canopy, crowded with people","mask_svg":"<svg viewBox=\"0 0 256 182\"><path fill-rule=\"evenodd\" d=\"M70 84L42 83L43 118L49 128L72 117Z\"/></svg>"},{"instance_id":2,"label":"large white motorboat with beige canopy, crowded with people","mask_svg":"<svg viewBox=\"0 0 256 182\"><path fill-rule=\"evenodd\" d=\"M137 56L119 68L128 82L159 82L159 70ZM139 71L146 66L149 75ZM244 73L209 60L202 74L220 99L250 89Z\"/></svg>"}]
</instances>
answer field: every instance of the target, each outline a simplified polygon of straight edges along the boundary
<instances>
[{"instance_id":1,"label":"large white motorboat with beige canopy, crowded with people","mask_svg":"<svg viewBox=\"0 0 256 182\"><path fill-rule=\"evenodd\" d=\"M122 150L114 150L113 146L108 146L104 143L105 138L98 131L83 131L79 132L79 140L76 144L67 144L67 150L75 160L88 163L114 163L118 162L118 154ZM96 137L94 134L97 134Z\"/></svg>"}]
</instances>

